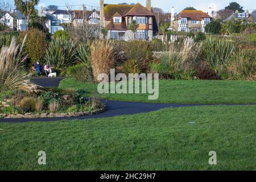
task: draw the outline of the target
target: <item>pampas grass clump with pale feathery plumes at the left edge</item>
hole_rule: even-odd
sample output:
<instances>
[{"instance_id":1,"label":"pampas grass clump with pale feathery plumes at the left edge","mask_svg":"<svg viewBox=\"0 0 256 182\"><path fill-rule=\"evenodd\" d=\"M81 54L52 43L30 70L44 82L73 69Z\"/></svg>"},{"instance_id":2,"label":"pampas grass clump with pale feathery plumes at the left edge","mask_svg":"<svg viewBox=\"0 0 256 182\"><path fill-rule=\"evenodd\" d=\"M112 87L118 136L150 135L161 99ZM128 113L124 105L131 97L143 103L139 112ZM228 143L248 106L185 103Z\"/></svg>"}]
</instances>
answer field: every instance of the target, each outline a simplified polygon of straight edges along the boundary
<instances>
[{"instance_id":1,"label":"pampas grass clump with pale feathery plumes at the left edge","mask_svg":"<svg viewBox=\"0 0 256 182\"><path fill-rule=\"evenodd\" d=\"M24 72L23 65L27 56L22 51L26 36L22 46L16 44L15 37L12 38L10 46L3 46L0 52L0 88L6 90L26 90L28 92L38 91L38 86L28 81L28 75Z\"/></svg>"}]
</instances>

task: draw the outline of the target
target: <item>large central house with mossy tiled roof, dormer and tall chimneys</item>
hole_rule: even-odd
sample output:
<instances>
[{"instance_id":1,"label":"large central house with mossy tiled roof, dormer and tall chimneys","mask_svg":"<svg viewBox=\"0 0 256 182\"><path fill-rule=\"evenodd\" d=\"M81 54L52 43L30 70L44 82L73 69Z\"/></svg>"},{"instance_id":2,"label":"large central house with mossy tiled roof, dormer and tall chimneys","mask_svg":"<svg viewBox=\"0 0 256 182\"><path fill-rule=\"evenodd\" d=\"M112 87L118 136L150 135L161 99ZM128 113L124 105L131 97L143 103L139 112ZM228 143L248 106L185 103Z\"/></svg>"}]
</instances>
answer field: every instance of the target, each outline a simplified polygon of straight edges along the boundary
<instances>
[{"instance_id":1,"label":"large central house with mossy tiled roof, dormer and tall chimneys","mask_svg":"<svg viewBox=\"0 0 256 182\"><path fill-rule=\"evenodd\" d=\"M136 5L110 5L100 0L100 24L108 30L106 38L118 40L152 40L158 33L155 14L152 12L151 0L147 0L146 7L140 3ZM130 24L137 23L136 31L129 29Z\"/></svg>"}]
</instances>

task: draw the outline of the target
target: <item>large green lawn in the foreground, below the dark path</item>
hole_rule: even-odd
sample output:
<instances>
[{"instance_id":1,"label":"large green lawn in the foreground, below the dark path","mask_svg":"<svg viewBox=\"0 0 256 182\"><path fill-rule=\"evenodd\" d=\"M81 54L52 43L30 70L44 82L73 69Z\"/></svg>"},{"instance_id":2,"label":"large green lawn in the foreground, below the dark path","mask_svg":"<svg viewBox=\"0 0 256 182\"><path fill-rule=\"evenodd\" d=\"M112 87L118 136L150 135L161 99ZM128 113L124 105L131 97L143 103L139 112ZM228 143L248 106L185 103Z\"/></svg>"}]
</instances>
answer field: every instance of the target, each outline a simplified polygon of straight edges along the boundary
<instances>
[{"instance_id":1,"label":"large green lawn in the foreground, below the dark path","mask_svg":"<svg viewBox=\"0 0 256 182\"><path fill-rule=\"evenodd\" d=\"M0 123L0 170L256 170L256 106L169 108L85 121ZM208 164L209 151L217 165ZM46 151L47 165L38 165Z\"/></svg>"}]
</instances>

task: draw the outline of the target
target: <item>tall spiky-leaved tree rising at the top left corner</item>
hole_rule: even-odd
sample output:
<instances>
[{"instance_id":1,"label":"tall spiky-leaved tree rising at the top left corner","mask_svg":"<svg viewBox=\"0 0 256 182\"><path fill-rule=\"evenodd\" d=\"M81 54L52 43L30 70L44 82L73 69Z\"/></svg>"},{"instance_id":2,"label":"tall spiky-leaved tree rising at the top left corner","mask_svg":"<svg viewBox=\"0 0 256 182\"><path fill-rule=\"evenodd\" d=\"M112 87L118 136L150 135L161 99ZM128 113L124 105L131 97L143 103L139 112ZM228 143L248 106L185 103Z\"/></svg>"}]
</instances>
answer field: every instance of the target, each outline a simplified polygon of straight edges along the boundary
<instances>
[{"instance_id":1,"label":"tall spiky-leaved tree rising at the top left corner","mask_svg":"<svg viewBox=\"0 0 256 182\"><path fill-rule=\"evenodd\" d=\"M30 15L38 5L39 0L14 0L16 8L26 17L27 25L30 22Z\"/></svg>"}]
</instances>

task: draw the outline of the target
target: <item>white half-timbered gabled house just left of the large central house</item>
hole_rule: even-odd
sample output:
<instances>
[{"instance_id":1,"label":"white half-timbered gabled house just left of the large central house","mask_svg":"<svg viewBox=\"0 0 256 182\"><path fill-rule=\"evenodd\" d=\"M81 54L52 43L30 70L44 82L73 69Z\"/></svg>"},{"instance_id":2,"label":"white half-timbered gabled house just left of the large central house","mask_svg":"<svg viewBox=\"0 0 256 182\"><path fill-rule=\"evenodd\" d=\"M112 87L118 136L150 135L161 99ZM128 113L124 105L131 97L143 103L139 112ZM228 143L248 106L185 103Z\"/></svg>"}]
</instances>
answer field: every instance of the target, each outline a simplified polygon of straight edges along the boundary
<instances>
[{"instance_id":1,"label":"white half-timbered gabled house just left of the large central house","mask_svg":"<svg viewBox=\"0 0 256 182\"><path fill-rule=\"evenodd\" d=\"M100 11L97 11L95 9L92 11L73 11L73 26L76 27L81 24L83 19L86 19L90 24L100 24Z\"/></svg>"}]
</instances>

